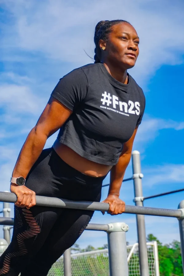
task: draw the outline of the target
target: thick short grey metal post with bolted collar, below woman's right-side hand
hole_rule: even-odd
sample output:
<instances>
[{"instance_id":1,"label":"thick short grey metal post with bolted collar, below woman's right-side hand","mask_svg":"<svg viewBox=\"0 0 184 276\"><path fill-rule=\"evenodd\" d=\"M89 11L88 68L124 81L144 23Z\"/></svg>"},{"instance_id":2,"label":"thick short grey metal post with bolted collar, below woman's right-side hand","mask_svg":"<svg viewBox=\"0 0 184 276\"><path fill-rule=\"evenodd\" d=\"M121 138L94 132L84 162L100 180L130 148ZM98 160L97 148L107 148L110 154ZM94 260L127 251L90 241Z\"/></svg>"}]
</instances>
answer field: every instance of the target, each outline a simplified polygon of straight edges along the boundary
<instances>
[{"instance_id":1,"label":"thick short grey metal post with bolted collar, below woman's right-side hand","mask_svg":"<svg viewBox=\"0 0 184 276\"><path fill-rule=\"evenodd\" d=\"M128 225L121 222L107 224L109 229L109 270L110 276L128 276L126 232Z\"/></svg>"}]
</instances>

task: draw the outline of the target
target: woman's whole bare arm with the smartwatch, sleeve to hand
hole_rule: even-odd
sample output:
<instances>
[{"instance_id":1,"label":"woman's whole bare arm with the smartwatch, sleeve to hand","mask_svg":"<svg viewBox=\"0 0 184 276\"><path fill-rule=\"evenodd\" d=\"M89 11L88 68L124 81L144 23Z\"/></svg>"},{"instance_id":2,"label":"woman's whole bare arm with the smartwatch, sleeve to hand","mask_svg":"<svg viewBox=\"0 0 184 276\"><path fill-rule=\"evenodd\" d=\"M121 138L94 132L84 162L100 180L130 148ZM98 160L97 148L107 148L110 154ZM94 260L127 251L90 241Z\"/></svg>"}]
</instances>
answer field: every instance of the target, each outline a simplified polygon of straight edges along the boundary
<instances>
[{"instance_id":1,"label":"woman's whole bare arm with the smartwatch, sleeve to hand","mask_svg":"<svg viewBox=\"0 0 184 276\"><path fill-rule=\"evenodd\" d=\"M51 97L36 126L30 131L21 148L12 177L27 177L31 167L40 156L46 140L68 119L72 111ZM35 193L26 186L11 183L10 191L17 195L16 205L30 208L36 204Z\"/></svg>"}]
</instances>

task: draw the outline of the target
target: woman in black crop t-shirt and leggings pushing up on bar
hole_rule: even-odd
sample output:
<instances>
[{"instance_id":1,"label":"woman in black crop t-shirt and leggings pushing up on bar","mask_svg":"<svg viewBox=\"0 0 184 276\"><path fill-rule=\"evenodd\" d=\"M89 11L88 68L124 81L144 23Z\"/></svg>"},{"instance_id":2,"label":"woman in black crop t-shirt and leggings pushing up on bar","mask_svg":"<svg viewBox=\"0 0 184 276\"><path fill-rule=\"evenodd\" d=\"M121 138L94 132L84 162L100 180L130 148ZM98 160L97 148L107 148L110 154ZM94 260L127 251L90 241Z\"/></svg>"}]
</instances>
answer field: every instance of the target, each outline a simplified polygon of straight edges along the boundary
<instances>
[{"instance_id":1,"label":"woman in black crop t-shirt and leggings pushing up on bar","mask_svg":"<svg viewBox=\"0 0 184 276\"><path fill-rule=\"evenodd\" d=\"M59 80L18 156L10 187L17 195L13 238L1 256L0 275L47 275L94 213L34 206L35 195L100 201L110 171L104 202L111 215L125 210L119 192L145 108L142 89L127 73L139 38L127 21L100 21L94 42L94 64ZM43 150L59 128L53 147Z\"/></svg>"}]
</instances>

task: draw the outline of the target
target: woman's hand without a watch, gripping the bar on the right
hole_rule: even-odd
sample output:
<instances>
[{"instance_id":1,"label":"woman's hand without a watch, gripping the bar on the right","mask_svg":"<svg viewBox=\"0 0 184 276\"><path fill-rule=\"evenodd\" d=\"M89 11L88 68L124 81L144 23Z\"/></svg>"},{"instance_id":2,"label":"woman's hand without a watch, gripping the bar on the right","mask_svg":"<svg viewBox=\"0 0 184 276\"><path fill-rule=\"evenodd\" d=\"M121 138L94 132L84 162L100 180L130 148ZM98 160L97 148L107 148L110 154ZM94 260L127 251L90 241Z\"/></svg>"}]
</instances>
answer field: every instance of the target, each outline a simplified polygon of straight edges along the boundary
<instances>
[{"instance_id":1,"label":"woman's hand without a watch, gripping the bar on the right","mask_svg":"<svg viewBox=\"0 0 184 276\"><path fill-rule=\"evenodd\" d=\"M109 203L109 211L107 213L112 216L125 212L125 202L117 195L108 195L108 197L102 202ZM102 212L102 214L104 215L105 212Z\"/></svg>"}]
</instances>

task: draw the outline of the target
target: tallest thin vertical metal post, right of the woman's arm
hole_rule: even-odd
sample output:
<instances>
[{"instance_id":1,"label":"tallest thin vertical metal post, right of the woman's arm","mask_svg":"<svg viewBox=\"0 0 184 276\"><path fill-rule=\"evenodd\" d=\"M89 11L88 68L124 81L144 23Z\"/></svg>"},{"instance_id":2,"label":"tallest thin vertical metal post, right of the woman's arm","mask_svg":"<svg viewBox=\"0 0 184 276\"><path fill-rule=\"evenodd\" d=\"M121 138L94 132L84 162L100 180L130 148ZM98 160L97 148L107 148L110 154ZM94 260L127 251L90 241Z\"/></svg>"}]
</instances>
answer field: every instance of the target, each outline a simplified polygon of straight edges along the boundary
<instances>
[{"instance_id":1,"label":"tallest thin vertical metal post, right of the woman's arm","mask_svg":"<svg viewBox=\"0 0 184 276\"><path fill-rule=\"evenodd\" d=\"M133 182L134 182L134 202L136 206L143 206L143 191L142 180L143 174L141 174L140 167L140 152L132 152L132 168L133 168ZM136 215L137 221L137 236L139 243L139 263L141 276L149 275L148 268L148 251L146 245L146 230L144 215Z\"/></svg>"}]
</instances>

